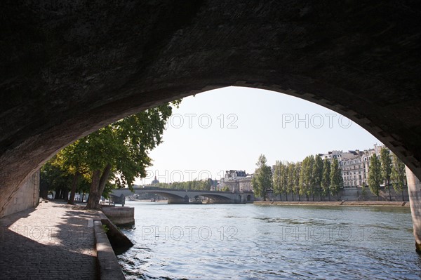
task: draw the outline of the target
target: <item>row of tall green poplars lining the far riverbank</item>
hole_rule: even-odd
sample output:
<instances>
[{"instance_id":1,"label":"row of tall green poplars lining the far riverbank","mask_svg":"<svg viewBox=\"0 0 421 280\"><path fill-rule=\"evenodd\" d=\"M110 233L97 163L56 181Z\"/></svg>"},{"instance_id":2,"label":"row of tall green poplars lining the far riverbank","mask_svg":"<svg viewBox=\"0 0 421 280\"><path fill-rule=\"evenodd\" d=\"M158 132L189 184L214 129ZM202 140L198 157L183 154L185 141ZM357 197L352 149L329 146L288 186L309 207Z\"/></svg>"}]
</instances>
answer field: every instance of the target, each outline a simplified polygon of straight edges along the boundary
<instances>
[{"instance_id":1,"label":"row of tall green poplars lining the far riverbank","mask_svg":"<svg viewBox=\"0 0 421 280\"><path fill-rule=\"evenodd\" d=\"M339 199L339 190L343 188L340 164L337 159L321 159L316 156L307 156L301 162L276 161L274 171L267 165L265 155L260 155L256 164L252 185L256 196L267 199L267 194L272 191L275 196L282 196L288 201L288 195L292 199L301 201L302 197L312 201L323 201L323 197L336 196ZM368 189L377 200L380 194L380 185L384 184L392 201L391 185L396 192L401 192L403 199L403 187L406 184L405 165L389 149L382 148L380 156L371 156L368 171ZM365 194L366 185L361 185Z\"/></svg>"}]
</instances>

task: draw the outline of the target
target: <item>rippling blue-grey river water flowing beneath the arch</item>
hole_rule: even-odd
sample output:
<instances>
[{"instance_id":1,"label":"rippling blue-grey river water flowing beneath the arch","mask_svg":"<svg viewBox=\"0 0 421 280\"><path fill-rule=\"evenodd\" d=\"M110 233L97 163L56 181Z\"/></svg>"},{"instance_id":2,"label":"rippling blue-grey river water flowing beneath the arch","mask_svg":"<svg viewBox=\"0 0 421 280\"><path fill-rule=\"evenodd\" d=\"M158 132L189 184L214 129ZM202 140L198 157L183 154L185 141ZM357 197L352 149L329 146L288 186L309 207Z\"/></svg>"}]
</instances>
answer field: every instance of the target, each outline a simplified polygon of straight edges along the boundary
<instances>
[{"instance_id":1,"label":"rippling blue-grey river water flowing beneath the arch","mask_svg":"<svg viewBox=\"0 0 421 280\"><path fill-rule=\"evenodd\" d=\"M127 279L421 279L409 208L127 206Z\"/></svg>"}]
</instances>

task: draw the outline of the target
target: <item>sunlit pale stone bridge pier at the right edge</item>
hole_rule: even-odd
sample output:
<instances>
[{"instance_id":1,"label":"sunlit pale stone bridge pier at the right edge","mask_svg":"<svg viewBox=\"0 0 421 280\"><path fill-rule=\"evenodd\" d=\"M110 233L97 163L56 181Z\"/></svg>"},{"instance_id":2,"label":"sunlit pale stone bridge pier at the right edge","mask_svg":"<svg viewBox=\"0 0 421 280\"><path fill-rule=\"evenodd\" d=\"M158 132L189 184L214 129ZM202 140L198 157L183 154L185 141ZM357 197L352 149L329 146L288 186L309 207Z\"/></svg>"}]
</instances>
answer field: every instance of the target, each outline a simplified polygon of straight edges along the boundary
<instances>
[{"instance_id":1,"label":"sunlit pale stone bridge pier at the right edge","mask_svg":"<svg viewBox=\"0 0 421 280\"><path fill-rule=\"evenodd\" d=\"M415 251L421 254L421 182L408 167L406 167L406 182L413 219Z\"/></svg>"}]
</instances>

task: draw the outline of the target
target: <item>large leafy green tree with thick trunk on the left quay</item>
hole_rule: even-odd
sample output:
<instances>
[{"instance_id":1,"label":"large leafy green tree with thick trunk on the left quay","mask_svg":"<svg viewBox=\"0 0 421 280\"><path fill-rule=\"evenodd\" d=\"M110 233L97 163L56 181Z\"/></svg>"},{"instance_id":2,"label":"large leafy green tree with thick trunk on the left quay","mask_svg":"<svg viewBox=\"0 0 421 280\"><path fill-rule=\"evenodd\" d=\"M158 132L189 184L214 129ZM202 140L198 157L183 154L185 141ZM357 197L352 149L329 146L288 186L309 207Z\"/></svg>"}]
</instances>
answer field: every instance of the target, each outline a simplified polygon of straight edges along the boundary
<instances>
[{"instance_id":1,"label":"large leafy green tree with thick trunk on the left quay","mask_svg":"<svg viewBox=\"0 0 421 280\"><path fill-rule=\"evenodd\" d=\"M162 142L166 121L179 103L165 103L116 121L58 154L63 168L74 175L85 169L91 173L87 208L98 208L101 195L109 192L106 187L132 188L135 178L145 177L152 164L148 153Z\"/></svg>"}]
</instances>

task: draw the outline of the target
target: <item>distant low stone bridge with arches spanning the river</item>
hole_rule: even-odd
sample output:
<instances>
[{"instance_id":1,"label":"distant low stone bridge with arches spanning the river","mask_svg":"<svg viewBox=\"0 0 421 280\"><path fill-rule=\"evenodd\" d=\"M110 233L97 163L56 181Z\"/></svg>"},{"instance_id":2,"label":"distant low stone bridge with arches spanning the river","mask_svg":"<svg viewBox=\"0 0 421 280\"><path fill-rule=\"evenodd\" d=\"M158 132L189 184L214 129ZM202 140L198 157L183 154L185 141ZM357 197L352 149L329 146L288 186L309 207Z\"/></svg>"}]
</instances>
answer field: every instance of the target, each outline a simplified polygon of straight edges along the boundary
<instances>
[{"instance_id":1,"label":"distant low stone bridge with arches spanning the river","mask_svg":"<svg viewBox=\"0 0 421 280\"><path fill-rule=\"evenodd\" d=\"M128 189L114 189L111 193L113 196L120 197L130 196L132 194L159 194L168 197L168 204L189 204L192 201L197 201L199 196L204 196L213 204L243 204L251 203L254 200L253 192L218 192L218 191L201 191L201 190L187 190L187 189L164 189L158 187L135 187L133 192Z\"/></svg>"}]
</instances>

